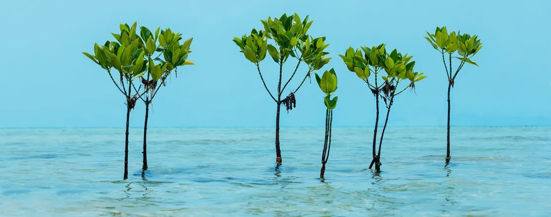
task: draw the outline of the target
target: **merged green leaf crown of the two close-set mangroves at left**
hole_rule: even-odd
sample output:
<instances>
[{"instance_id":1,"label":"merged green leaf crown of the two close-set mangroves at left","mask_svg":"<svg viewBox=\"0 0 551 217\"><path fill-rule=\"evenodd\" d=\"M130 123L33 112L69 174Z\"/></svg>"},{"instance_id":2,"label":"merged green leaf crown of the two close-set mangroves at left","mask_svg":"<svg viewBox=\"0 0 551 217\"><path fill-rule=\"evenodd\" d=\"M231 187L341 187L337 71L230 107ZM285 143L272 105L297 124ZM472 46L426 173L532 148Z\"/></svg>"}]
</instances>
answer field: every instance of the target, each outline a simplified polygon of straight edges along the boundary
<instances>
[{"instance_id":1,"label":"merged green leaf crown of the two close-set mangroves at left","mask_svg":"<svg viewBox=\"0 0 551 217\"><path fill-rule=\"evenodd\" d=\"M132 26L120 24L119 29L120 34L111 33L116 41L106 41L102 46L95 43L94 55L83 54L103 69L116 69L129 82L145 73L156 82L177 66L193 64L187 61L193 38L180 44L182 34L160 27L153 34L147 27L140 26L138 34L136 23ZM153 58L155 52L160 54ZM159 58L161 55L164 59Z\"/></svg>"}]
</instances>

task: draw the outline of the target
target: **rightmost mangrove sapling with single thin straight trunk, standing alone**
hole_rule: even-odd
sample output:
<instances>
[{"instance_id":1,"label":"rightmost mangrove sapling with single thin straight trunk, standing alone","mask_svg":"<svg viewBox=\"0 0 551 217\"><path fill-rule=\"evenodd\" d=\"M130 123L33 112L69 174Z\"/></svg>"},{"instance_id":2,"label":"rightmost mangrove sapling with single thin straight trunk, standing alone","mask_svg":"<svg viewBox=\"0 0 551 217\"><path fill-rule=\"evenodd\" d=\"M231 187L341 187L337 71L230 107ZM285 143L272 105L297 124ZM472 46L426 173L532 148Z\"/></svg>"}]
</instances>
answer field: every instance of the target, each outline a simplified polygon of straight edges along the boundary
<instances>
[{"instance_id":1,"label":"rightmost mangrove sapling with single thin straight trunk, standing alone","mask_svg":"<svg viewBox=\"0 0 551 217\"><path fill-rule=\"evenodd\" d=\"M448 79L448 92L447 92L447 102L448 102L448 116L447 116L447 151L446 151L446 163L450 162L450 91L453 85L455 84L455 78L459 71L463 68L463 65L465 63L470 63L473 65L478 66L477 63L473 62L471 58L474 56L474 54L477 54L480 49L482 49L482 43L480 43L480 40L478 39L477 35L471 35L463 34L461 35L461 31L457 32L457 35L455 31L451 31L450 34L447 33L446 27L436 27L436 31L434 34L430 34L429 32L426 32L429 37L425 37L427 41L430 42L430 44L436 49L436 51L440 52L442 54L442 62L444 62L444 68L446 69L446 75ZM452 54L455 53L459 54L458 57L453 57L461 62L458 64L457 69L455 73L452 71ZM448 62L450 65L450 68L448 69L446 64L446 55L448 54Z\"/></svg>"}]
</instances>

